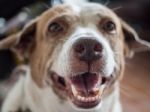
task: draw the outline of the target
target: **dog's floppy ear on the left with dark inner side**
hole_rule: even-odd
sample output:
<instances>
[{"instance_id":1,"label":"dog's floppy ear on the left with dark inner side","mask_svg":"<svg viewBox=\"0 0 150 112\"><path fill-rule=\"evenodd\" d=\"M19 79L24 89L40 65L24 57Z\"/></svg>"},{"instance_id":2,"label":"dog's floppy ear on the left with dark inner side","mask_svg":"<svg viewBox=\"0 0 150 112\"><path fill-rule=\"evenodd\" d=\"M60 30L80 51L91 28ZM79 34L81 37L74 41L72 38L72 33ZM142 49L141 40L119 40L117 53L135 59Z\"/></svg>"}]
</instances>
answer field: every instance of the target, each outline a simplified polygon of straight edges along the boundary
<instances>
[{"instance_id":1,"label":"dog's floppy ear on the left with dark inner side","mask_svg":"<svg viewBox=\"0 0 150 112\"><path fill-rule=\"evenodd\" d=\"M36 24L38 19L30 21L20 32L0 41L0 50L11 49L20 59L28 58L35 43Z\"/></svg>"}]
</instances>

